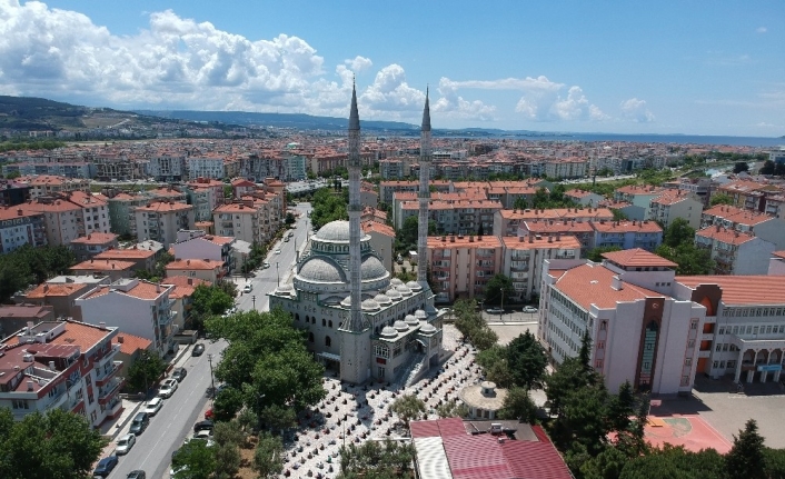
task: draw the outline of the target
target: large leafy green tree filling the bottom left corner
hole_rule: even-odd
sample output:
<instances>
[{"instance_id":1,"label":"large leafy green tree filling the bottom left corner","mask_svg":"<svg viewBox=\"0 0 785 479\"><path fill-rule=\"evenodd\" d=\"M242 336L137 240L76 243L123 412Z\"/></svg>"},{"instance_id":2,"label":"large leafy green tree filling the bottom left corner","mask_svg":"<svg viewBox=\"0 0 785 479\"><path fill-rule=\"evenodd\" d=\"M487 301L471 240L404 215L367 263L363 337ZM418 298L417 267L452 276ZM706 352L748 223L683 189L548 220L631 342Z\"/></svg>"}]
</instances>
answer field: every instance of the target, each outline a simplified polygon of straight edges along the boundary
<instances>
[{"instance_id":1,"label":"large leafy green tree filling the bottom left corner","mask_svg":"<svg viewBox=\"0 0 785 479\"><path fill-rule=\"evenodd\" d=\"M11 410L1 408L0 432L3 479L88 477L107 443L87 418L61 409L13 422Z\"/></svg>"}]
</instances>

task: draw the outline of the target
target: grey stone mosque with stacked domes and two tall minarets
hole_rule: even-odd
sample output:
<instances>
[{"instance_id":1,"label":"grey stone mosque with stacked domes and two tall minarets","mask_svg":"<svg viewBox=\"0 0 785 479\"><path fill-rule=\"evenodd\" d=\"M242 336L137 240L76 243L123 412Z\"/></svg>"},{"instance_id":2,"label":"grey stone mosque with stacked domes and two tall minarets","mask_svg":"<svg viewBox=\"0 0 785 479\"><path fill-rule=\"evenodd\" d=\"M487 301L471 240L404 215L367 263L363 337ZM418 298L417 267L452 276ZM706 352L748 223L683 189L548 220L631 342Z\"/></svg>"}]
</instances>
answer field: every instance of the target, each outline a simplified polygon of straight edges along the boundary
<instances>
[{"instance_id":1,"label":"grey stone mosque with stacked domes and two tall minarets","mask_svg":"<svg viewBox=\"0 0 785 479\"><path fill-rule=\"evenodd\" d=\"M417 253L427 258L430 193L430 110L426 93L420 132L420 192ZM438 365L441 316L426 269L417 281L392 278L370 237L360 229L360 120L357 93L349 114L349 221L332 221L314 234L297 263L291 282L269 293L270 308L291 313L308 331L308 348L341 380L406 380Z\"/></svg>"}]
</instances>

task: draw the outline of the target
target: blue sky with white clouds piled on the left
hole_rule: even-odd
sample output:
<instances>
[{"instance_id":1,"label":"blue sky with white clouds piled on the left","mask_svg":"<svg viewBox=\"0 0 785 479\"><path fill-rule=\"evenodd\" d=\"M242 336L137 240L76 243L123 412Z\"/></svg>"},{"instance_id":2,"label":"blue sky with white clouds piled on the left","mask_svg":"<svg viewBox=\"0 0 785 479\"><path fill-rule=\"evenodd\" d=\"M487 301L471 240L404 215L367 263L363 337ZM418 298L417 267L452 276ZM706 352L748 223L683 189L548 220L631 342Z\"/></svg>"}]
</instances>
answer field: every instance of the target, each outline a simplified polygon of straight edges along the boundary
<instances>
[{"instance_id":1,"label":"blue sky with white clouds piled on the left","mask_svg":"<svg viewBox=\"0 0 785 479\"><path fill-rule=\"evenodd\" d=\"M0 0L0 94L434 128L785 134L785 1Z\"/></svg>"}]
</instances>

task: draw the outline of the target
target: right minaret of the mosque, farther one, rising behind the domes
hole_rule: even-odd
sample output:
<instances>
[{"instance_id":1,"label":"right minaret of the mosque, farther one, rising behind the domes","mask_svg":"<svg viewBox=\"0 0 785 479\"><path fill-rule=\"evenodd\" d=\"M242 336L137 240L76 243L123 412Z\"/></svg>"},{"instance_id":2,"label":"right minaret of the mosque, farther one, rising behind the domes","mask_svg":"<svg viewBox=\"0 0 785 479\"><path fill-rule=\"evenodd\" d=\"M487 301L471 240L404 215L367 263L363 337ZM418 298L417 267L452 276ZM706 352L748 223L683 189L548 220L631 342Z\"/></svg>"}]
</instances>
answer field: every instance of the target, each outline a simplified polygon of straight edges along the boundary
<instances>
[{"instance_id":1,"label":"right minaret of the mosque, farther one, rising behind the domes","mask_svg":"<svg viewBox=\"0 0 785 479\"><path fill-rule=\"evenodd\" d=\"M428 90L425 91L425 109L423 110L423 127L420 128L420 187L419 218L417 224L417 282L424 290L428 290L428 203L430 202L430 107L428 106Z\"/></svg>"}]
</instances>

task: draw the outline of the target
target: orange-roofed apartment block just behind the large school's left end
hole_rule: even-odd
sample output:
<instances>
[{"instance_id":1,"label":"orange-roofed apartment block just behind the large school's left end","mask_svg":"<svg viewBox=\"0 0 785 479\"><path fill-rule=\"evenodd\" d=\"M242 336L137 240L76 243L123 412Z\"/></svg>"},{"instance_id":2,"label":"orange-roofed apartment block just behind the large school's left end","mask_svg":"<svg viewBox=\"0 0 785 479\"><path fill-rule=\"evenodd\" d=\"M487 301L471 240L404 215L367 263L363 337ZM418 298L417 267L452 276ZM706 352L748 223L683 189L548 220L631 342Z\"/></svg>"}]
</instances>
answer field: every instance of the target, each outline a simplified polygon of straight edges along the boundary
<instances>
[{"instance_id":1,"label":"orange-roofed apartment block just behind the large school's left end","mask_svg":"<svg viewBox=\"0 0 785 479\"><path fill-rule=\"evenodd\" d=\"M543 262L546 259L580 258L580 241L574 236L503 237L503 270L513 280L510 301L524 302L539 293Z\"/></svg>"}]
</instances>

